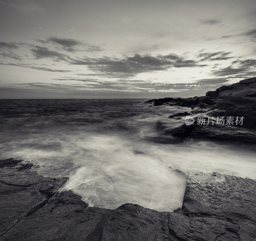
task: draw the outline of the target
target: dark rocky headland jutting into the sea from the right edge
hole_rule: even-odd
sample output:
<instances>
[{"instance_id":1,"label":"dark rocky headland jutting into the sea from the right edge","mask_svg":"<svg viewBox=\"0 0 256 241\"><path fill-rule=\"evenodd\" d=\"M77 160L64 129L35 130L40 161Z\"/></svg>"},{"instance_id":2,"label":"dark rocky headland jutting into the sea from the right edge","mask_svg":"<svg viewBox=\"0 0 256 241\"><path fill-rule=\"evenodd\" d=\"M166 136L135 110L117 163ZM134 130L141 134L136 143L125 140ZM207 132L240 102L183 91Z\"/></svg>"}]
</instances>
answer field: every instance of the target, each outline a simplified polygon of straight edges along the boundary
<instances>
[{"instance_id":1,"label":"dark rocky headland jutting into the sea from the right edge","mask_svg":"<svg viewBox=\"0 0 256 241\"><path fill-rule=\"evenodd\" d=\"M169 118L180 118L184 116L194 117L192 125L181 124L172 127L168 122L158 122L157 129L161 135L171 135L179 139L215 139L256 144L256 77L241 80L228 86L221 86L215 91L208 91L205 96L195 96L193 98L164 98L153 99L145 103L158 105L178 105L189 107L191 111L180 112L169 116ZM213 118L211 124L198 124L198 118L204 113L209 118ZM220 125L214 117L243 118L243 123Z\"/></svg>"}]
</instances>

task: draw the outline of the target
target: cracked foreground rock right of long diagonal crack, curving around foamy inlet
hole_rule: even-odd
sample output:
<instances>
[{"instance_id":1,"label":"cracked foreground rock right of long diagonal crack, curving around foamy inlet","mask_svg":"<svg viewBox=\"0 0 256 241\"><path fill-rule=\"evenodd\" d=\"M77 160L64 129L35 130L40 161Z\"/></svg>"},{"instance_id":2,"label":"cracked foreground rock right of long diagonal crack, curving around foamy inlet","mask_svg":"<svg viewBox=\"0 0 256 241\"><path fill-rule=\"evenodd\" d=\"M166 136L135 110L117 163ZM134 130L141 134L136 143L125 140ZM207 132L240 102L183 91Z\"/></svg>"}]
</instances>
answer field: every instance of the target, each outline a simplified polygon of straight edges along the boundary
<instances>
[{"instance_id":1,"label":"cracked foreground rock right of long diagonal crack, curving around foamy inlet","mask_svg":"<svg viewBox=\"0 0 256 241\"><path fill-rule=\"evenodd\" d=\"M88 207L81 196L64 191L1 240L254 240L255 183L220 173L191 174L182 208L173 213L132 203L114 210Z\"/></svg>"}]
</instances>

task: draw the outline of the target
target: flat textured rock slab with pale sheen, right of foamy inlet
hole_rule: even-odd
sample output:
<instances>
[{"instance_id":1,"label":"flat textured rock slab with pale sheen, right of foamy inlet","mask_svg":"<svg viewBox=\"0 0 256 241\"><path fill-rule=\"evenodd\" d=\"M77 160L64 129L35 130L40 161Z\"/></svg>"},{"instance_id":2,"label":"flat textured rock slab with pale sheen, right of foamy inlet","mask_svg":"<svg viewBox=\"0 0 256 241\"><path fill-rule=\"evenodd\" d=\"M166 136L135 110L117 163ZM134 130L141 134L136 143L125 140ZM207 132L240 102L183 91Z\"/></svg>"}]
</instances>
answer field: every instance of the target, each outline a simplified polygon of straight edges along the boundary
<instances>
[{"instance_id":1,"label":"flat textured rock slab with pale sheen, right of foamy inlet","mask_svg":"<svg viewBox=\"0 0 256 241\"><path fill-rule=\"evenodd\" d=\"M228 221L240 240L256 240L256 182L220 173L190 175L182 210L187 216Z\"/></svg>"}]
</instances>

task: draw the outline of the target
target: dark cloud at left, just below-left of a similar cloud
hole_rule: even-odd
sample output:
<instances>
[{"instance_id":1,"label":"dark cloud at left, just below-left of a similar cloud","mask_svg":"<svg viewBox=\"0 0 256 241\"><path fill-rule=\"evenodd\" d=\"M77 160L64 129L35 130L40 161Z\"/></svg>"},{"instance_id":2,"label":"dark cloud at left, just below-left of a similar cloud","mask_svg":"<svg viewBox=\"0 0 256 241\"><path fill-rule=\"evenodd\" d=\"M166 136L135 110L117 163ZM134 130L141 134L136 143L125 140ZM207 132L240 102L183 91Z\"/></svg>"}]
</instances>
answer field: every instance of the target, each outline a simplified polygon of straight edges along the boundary
<instances>
[{"instance_id":1,"label":"dark cloud at left, just below-left of a similar cloud","mask_svg":"<svg viewBox=\"0 0 256 241\"><path fill-rule=\"evenodd\" d=\"M52 51L46 47L36 45L34 49L30 49L36 59L53 58L54 60L65 60L67 55Z\"/></svg>"}]
</instances>

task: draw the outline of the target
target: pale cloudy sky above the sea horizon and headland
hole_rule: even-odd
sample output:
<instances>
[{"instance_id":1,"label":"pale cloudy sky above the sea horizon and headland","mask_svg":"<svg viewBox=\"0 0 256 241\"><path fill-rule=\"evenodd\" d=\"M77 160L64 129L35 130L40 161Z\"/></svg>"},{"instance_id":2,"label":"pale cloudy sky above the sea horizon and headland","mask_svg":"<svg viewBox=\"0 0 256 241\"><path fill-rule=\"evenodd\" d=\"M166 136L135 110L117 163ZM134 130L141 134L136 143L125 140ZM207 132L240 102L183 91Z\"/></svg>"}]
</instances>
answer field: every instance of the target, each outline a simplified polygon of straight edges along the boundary
<instances>
[{"instance_id":1,"label":"pale cloudy sky above the sea horizon and headland","mask_svg":"<svg viewBox=\"0 0 256 241\"><path fill-rule=\"evenodd\" d=\"M204 95L256 76L255 0L0 0L0 98Z\"/></svg>"}]
</instances>

